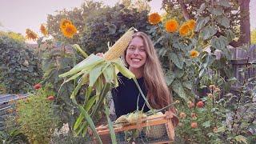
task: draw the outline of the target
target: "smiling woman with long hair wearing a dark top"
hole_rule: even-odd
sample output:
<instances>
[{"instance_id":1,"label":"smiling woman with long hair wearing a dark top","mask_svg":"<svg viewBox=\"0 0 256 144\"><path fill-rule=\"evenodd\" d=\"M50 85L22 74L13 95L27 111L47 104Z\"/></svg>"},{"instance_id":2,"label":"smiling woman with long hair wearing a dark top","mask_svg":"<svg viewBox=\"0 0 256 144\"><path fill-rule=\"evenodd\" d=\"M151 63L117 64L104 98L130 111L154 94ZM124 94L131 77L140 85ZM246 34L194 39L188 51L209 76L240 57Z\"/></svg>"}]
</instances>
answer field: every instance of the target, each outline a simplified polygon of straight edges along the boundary
<instances>
[{"instance_id":1,"label":"smiling woman with long hair wearing a dark top","mask_svg":"<svg viewBox=\"0 0 256 144\"><path fill-rule=\"evenodd\" d=\"M161 109L173 102L153 42L145 33L137 32L133 35L124 53L124 61L129 70L136 76L143 94L150 102L150 106L154 109ZM134 110L148 111L149 108L134 81L122 74L118 75L120 78L119 86L111 91L117 118Z\"/></svg>"}]
</instances>

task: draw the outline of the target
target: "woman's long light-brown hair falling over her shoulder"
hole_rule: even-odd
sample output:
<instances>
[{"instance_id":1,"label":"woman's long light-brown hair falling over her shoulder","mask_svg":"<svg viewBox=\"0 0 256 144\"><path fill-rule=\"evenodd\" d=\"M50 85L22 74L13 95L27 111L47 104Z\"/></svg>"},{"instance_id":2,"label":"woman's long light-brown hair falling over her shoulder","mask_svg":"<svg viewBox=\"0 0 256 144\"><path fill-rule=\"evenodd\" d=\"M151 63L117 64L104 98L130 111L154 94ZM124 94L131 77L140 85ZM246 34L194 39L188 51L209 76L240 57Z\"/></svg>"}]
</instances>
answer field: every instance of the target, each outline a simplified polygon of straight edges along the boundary
<instances>
[{"instance_id":1,"label":"woman's long light-brown hair falling over her shoulder","mask_svg":"<svg viewBox=\"0 0 256 144\"><path fill-rule=\"evenodd\" d=\"M158 59L156 50L154 50L153 42L147 34L137 32L133 35L133 38L135 37L143 39L146 50L146 62L143 69L143 78L147 90L147 99L150 102L150 106L154 109L161 109L173 102L173 98L170 95L170 91L164 79L162 66ZM126 56L126 51L124 55ZM124 57L124 59L126 62L126 57Z\"/></svg>"}]
</instances>

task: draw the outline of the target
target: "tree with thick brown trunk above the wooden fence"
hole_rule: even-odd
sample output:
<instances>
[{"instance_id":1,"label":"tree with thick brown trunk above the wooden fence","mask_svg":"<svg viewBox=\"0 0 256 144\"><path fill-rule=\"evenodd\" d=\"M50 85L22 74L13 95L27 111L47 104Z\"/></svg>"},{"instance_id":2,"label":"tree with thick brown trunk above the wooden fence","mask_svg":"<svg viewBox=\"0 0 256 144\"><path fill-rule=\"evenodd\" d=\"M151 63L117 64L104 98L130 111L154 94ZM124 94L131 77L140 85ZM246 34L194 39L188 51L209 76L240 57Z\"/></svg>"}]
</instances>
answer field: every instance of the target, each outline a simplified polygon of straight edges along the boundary
<instances>
[{"instance_id":1,"label":"tree with thick brown trunk above the wooden fence","mask_svg":"<svg viewBox=\"0 0 256 144\"><path fill-rule=\"evenodd\" d=\"M202 15L206 16L213 13L223 13L226 18L230 18L230 29L239 38L238 42L232 41L230 42L230 45L236 47L250 43L250 0L219 0L218 2L221 3L222 6L226 6L222 9L219 9L219 6L216 5L216 0L211 0L210 2L211 6L206 7L207 9L209 9L209 11L204 10L202 12ZM164 8L167 11L167 13L182 11L184 19L187 20L190 18L196 18L195 14L198 12L198 10L202 10L203 3L205 3L205 1L162 0L162 8ZM221 26L221 24L218 24L217 26L219 30L218 33L216 33L215 35L219 37L220 35L223 35L223 26ZM240 26L240 30L237 30L236 26Z\"/></svg>"}]
</instances>

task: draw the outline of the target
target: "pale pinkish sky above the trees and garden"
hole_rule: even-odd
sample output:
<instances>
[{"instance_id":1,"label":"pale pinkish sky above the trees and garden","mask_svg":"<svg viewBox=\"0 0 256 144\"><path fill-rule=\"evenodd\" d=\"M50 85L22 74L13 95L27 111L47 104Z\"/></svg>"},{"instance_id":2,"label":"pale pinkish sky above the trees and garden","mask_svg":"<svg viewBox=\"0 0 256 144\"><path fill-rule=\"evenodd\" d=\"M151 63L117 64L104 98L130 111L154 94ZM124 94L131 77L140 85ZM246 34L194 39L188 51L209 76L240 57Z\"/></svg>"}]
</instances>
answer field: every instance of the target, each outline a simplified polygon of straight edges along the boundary
<instances>
[{"instance_id":1,"label":"pale pinkish sky above the trees and garden","mask_svg":"<svg viewBox=\"0 0 256 144\"><path fill-rule=\"evenodd\" d=\"M0 0L0 30L25 35L26 28L30 28L39 33L39 26L46 22L47 14L57 14L56 10L72 10L81 6L82 2L84 0ZM102 2L114 6L118 0ZM160 11L161 3L160 0L152 0L151 11ZM250 25L251 30L256 29L256 0L250 0Z\"/></svg>"}]
</instances>

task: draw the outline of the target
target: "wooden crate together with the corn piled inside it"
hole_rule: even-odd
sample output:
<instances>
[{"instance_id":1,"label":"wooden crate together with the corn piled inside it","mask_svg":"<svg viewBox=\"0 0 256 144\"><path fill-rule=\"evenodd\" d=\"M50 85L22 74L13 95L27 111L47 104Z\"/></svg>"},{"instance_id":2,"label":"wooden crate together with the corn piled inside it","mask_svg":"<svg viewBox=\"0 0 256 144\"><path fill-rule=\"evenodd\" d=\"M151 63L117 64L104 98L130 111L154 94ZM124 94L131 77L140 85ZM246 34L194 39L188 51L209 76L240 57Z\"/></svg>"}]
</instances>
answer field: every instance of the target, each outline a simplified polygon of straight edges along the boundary
<instances>
[{"instance_id":1,"label":"wooden crate together with the corn piled inside it","mask_svg":"<svg viewBox=\"0 0 256 144\"><path fill-rule=\"evenodd\" d=\"M119 144L171 143L174 142L174 127L177 122L178 118L170 111L150 116L132 113L123 115L114 122L114 133ZM98 126L96 129L103 144L111 143L108 126ZM97 143L97 140L94 138L92 143Z\"/></svg>"}]
</instances>

